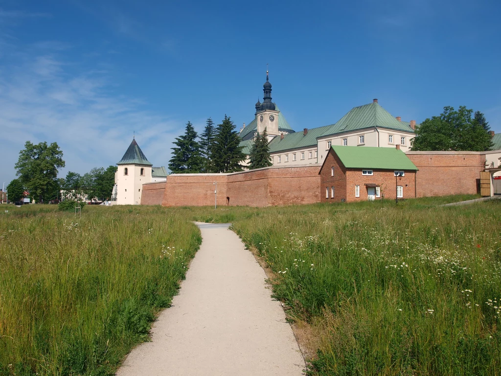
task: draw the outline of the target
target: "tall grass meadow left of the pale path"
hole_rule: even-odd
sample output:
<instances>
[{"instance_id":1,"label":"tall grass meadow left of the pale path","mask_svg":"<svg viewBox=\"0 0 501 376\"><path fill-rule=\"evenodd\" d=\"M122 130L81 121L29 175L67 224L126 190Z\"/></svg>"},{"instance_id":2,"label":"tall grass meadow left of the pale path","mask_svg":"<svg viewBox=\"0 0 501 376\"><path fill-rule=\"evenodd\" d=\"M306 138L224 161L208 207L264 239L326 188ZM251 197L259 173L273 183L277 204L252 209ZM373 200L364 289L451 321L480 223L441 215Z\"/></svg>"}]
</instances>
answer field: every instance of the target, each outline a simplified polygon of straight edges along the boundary
<instances>
[{"instance_id":1,"label":"tall grass meadow left of the pale path","mask_svg":"<svg viewBox=\"0 0 501 376\"><path fill-rule=\"evenodd\" d=\"M113 374L147 339L200 241L159 207L2 213L0 374Z\"/></svg>"}]
</instances>

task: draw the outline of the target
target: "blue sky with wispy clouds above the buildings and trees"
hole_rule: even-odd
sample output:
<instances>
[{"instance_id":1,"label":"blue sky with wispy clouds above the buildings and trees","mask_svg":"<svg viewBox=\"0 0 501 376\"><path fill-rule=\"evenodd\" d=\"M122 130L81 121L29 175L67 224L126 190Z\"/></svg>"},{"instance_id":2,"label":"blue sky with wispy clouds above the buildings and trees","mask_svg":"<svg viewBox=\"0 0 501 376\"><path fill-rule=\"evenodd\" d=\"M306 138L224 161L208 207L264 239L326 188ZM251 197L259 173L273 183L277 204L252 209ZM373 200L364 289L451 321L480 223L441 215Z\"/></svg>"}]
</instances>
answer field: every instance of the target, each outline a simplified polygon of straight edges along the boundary
<instances>
[{"instance_id":1,"label":"blue sky with wispy clouds above the buildings and trees","mask_svg":"<svg viewBox=\"0 0 501 376\"><path fill-rule=\"evenodd\" d=\"M115 164L133 131L167 166L187 121L253 120L267 63L295 130L378 98L417 122L465 105L501 132L500 14L482 0L0 0L0 183L27 140L58 142L62 177Z\"/></svg>"}]
</instances>

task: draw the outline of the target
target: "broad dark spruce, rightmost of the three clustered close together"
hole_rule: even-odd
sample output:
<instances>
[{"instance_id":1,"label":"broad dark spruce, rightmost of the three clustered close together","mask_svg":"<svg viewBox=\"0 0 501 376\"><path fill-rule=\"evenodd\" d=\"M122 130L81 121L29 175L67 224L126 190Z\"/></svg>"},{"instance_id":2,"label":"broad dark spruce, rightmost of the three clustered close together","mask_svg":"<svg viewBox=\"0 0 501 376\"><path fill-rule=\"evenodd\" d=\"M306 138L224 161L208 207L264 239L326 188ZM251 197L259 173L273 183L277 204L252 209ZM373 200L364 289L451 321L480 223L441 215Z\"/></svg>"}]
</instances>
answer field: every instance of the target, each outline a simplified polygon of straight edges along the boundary
<instances>
[{"instance_id":1,"label":"broad dark spruce, rightmost of the three clustered close together","mask_svg":"<svg viewBox=\"0 0 501 376\"><path fill-rule=\"evenodd\" d=\"M217 125L217 134L214 138L212 150L212 162L214 172L235 172L241 171L240 162L245 160L240 146L241 138L235 131L235 125L229 116L224 115L222 124Z\"/></svg>"}]
</instances>

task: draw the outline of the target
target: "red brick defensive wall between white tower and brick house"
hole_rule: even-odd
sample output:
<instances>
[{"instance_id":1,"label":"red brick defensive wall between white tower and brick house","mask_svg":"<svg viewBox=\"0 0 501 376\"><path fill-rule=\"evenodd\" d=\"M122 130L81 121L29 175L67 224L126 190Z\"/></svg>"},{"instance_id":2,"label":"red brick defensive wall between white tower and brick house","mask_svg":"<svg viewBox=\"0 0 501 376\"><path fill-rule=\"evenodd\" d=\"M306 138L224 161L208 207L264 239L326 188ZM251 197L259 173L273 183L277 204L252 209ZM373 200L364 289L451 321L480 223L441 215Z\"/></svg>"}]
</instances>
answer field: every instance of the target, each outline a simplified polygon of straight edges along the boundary
<instances>
[{"instance_id":1,"label":"red brick defensive wall between white tower and brick house","mask_svg":"<svg viewBox=\"0 0 501 376\"><path fill-rule=\"evenodd\" d=\"M320 165L265 167L233 173L179 173L143 185L141 205L266 207L320 202ZM162 185L163 184L163 185ZM162 200L159 195L162 194Z\"/></svg>"}]
</instances>

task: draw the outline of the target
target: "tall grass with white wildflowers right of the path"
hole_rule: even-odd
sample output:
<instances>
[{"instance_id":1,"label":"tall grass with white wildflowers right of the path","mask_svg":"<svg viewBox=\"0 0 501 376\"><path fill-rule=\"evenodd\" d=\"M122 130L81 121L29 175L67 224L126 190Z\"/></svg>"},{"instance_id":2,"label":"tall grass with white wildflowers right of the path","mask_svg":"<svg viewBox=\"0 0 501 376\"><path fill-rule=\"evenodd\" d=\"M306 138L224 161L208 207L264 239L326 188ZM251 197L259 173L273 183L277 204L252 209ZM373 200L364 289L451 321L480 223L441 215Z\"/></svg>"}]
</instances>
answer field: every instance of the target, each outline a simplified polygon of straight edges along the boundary
<instances>
[{"instance_id":1,"label":"tall grass with white wildflowers right of the path","mask_svg":"<svg viewBox=\"0 0 501 376\"><path fill-rule=\"evenodd\" d=\"M318 375L501 374L501 201L235 208ZM220 216L220 217L219 217Z\"/></svg>"}]
</instances>

